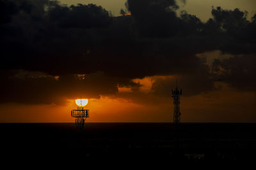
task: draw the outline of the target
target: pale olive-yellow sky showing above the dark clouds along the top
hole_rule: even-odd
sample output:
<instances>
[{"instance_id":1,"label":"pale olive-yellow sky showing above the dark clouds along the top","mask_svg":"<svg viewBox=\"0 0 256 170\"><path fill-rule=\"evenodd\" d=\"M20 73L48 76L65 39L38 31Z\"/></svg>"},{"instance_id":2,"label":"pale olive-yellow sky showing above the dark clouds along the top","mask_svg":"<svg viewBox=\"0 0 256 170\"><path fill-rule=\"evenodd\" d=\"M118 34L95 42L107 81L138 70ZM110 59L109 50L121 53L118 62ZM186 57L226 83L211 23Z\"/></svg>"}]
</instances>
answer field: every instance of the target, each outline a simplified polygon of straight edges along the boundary
<instances>
[{"instance_id":1,"label":"pale olive-yellow sky showing above the dark clouds along the top","mask_svg":"<svg viewBox=\"0 0 256 170\"><path fill-rule=\"evenodd\" d=\"M102 6L108 11L111 11L113 15L120 15L120 9L125 10L125 2L126 0L61 0L61 3L72 5L72 4L97 4ZM200 18L200 20L206 22L209 18L212 17L211 9L212 6L221 6L224 9L234 10L239 8L241 11L248 11L248 15L252 17L253 14L256 13L256 1L255 0L186 0L186 3L180 3L180 9L178 13L182 10L188 11L188 13L192 15L196 15L196 17Z\"/></svg>"}]
</instances>

